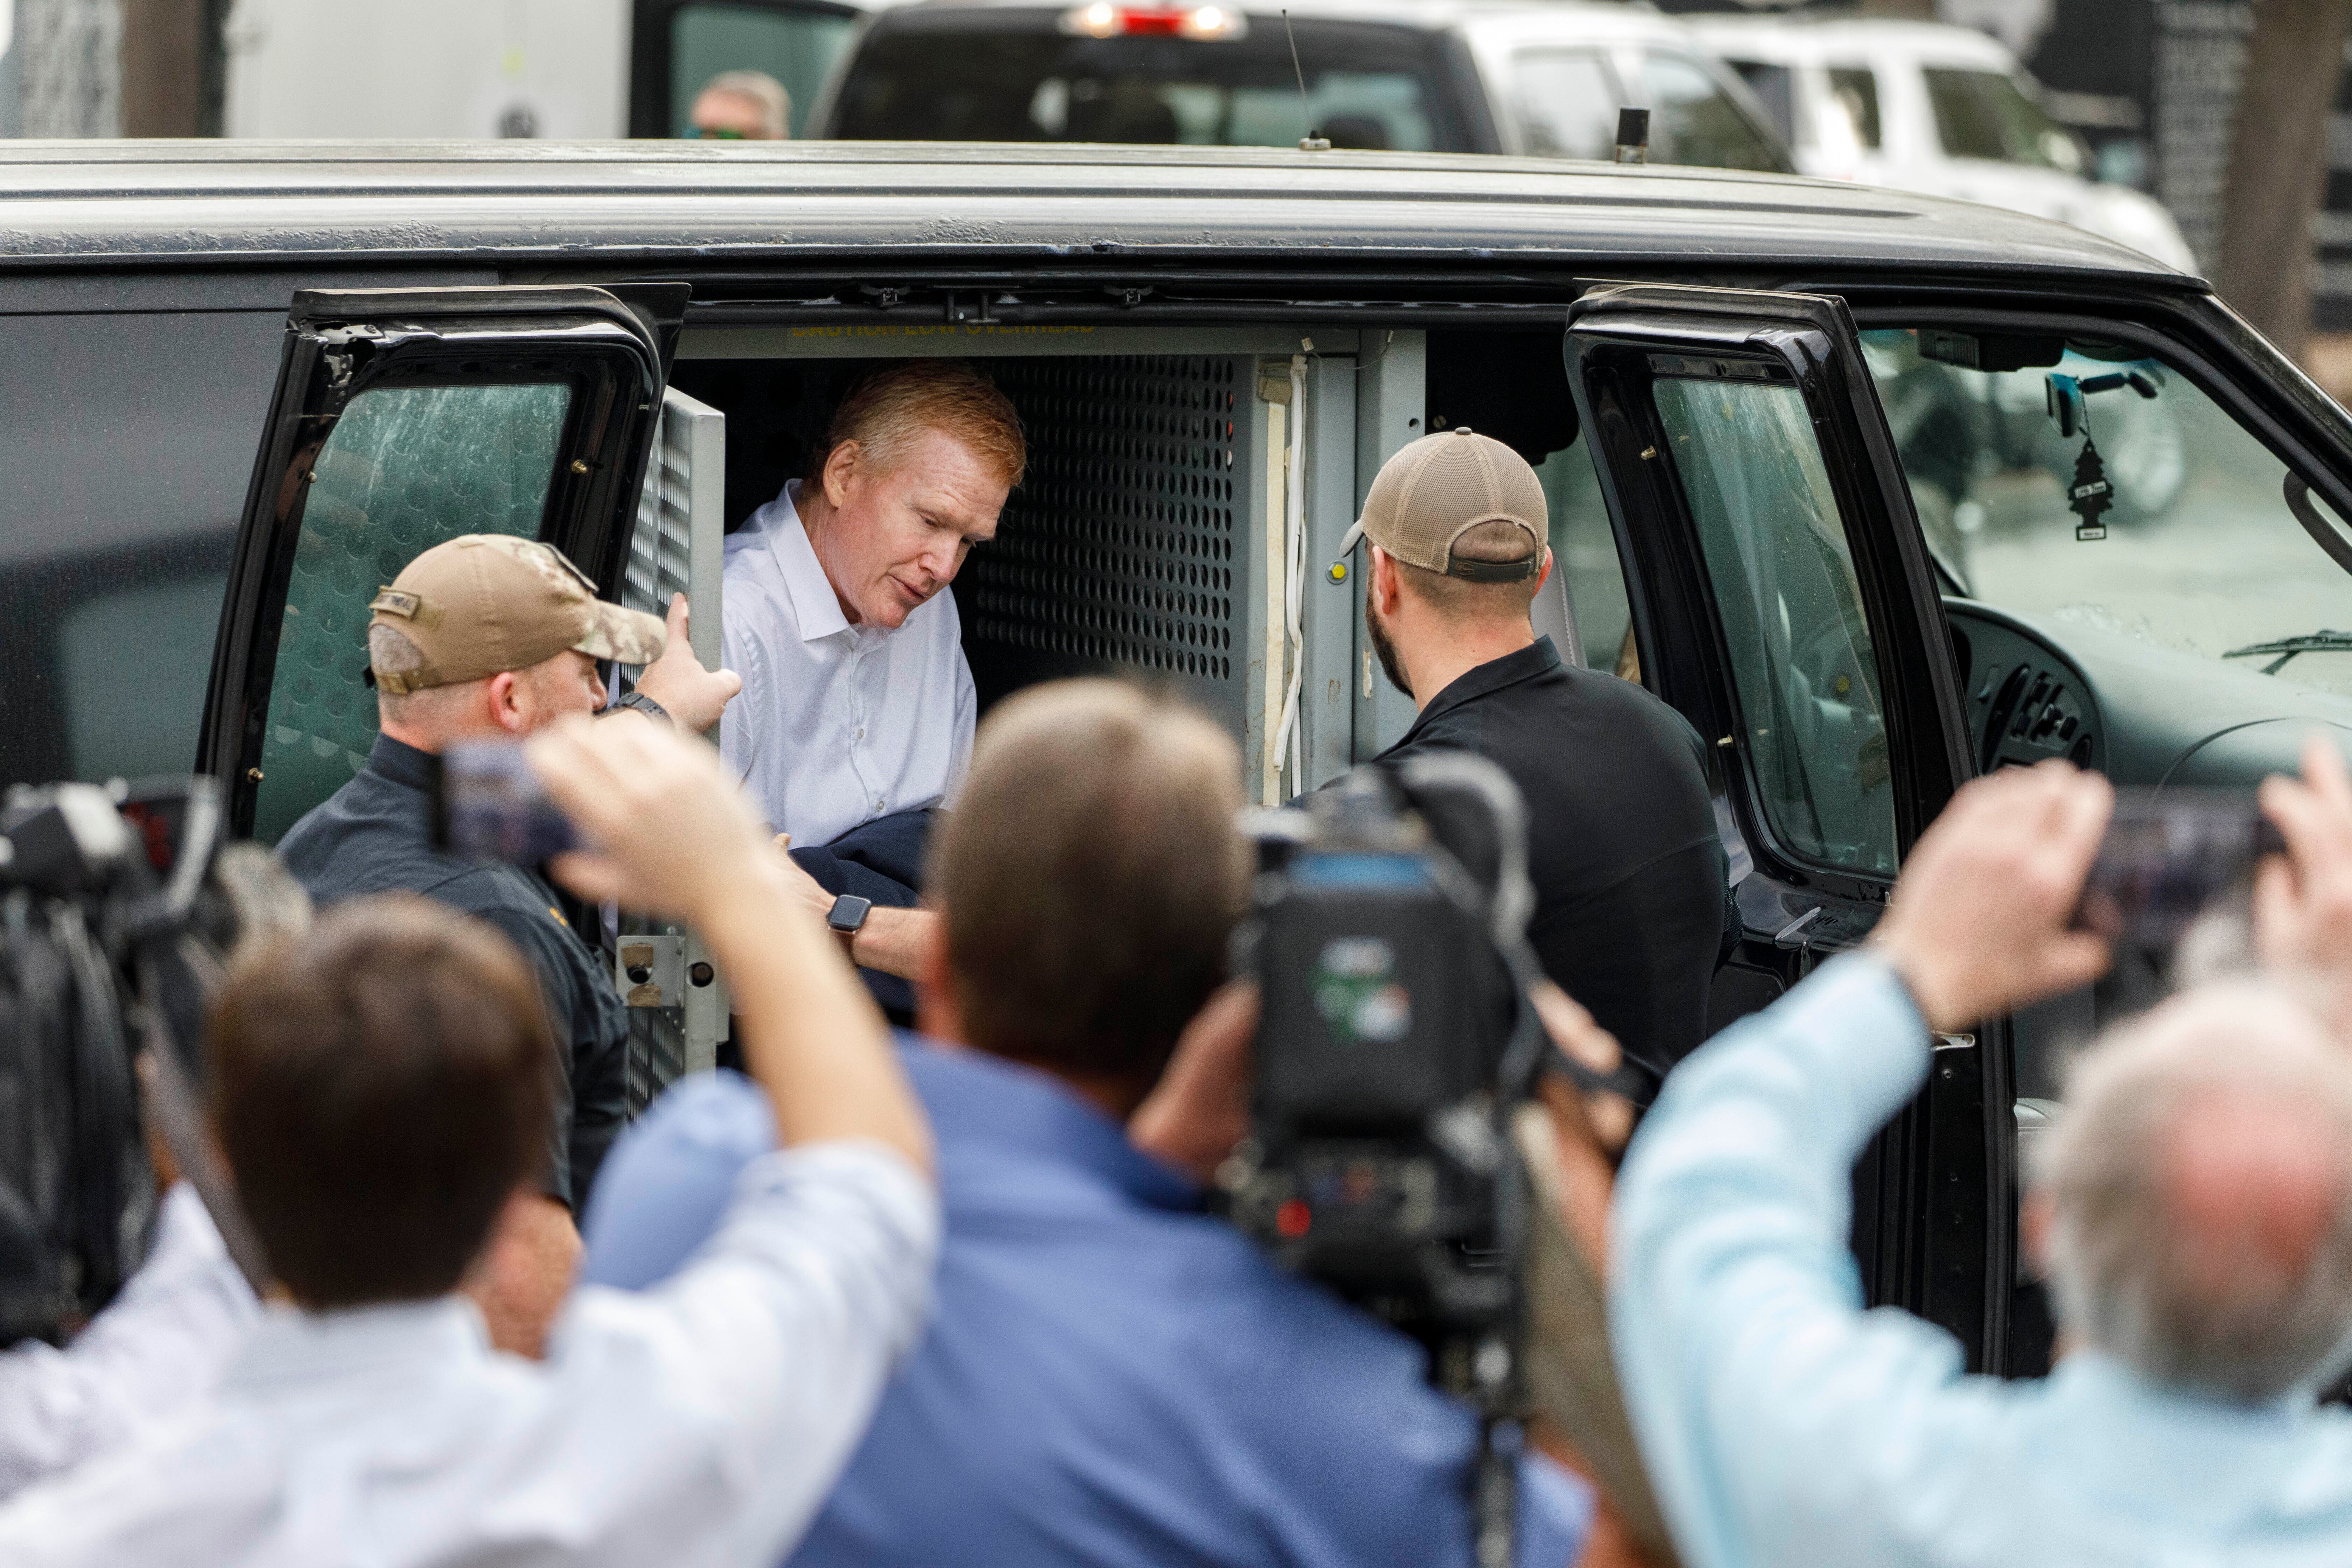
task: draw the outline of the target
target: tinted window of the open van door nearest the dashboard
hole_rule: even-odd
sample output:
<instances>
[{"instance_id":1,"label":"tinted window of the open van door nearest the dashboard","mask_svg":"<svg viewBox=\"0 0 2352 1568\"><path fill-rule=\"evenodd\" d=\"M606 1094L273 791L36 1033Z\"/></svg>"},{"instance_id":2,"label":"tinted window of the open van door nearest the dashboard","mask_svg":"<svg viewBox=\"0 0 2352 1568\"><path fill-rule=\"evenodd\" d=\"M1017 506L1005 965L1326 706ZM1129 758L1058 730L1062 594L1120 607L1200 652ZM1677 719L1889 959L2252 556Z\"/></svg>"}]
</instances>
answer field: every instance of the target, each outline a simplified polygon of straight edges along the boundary
<instances>
[{"instance_id":1,"label":"tinted window of the open van door nearest the dashboard","mask_svg":"<svg viewBox=\"0 0 2352 1568\"><path fill-rule=\"evenodd\" d=\"M1651 397L1698 527L1766 823L1804 860L1893 875L1879 668L1804 393L1658 378Z\"/></svg>"}]
</instances>

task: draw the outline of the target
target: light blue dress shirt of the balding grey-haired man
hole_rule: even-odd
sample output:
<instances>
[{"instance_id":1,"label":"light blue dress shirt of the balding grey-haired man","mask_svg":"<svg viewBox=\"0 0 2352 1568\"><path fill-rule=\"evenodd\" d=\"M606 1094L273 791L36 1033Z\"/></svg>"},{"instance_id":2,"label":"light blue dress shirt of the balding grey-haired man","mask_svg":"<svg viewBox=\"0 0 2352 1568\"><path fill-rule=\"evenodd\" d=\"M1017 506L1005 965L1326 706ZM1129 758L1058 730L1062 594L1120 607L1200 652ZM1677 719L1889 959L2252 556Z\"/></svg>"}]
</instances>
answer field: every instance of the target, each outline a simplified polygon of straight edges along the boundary
<instances>
[{"instance_id":1,"label":"light blue dress shirt of the balding grey-haired man","mask_svg":"<svg viewBox=\"0 0 2352 1568\"><path fill-rule=\"evenodd\" d=\"M1849 1171L1926 1079L1875 957L1825 966L1668 1081L1618 1180L1609 1328L1691 1568L2352 1563L2352 1418L2244 1408L2074 1352L1969 1378L1865 1312Z\"/></svg>"}]
</instances>

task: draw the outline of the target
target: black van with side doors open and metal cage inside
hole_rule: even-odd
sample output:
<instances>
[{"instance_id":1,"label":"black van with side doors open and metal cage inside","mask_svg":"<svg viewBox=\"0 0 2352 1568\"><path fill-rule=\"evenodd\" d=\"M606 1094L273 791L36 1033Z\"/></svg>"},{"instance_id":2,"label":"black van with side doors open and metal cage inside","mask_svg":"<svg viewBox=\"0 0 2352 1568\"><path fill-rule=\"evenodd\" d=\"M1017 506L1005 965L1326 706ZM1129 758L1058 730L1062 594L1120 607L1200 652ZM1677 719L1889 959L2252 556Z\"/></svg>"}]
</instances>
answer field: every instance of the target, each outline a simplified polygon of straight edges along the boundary
<instances>
[{"instance_id":1,"label":"black van with side doors open and metal cage inside","mask_svg":"<svg viewBox=\"0 0 2352 1568\"><path fill-rule=\"evenodd\" d=\"M14 143L0 223L0 769L193 764L261 839L367 752L405 559L536 534L715 639L724 527L898 355L985 360L1035 442L955 583L983 703L1174 682L1258 797L1411 719L1324 581L1378 463L1446 425L1538 461L1541 625L1722 769L1717 1020L1860 940L1971 773L2244 785L2352 731L2352 418L2204 282L1985 207L1296 148ZM2119 409L2176 421L2176 494L2086 517ZM2093 1023L1945 1039L1858 1173L1870 1298L1973 1366L2046 1366L2016 1126Z\"/></svg>"}]
</instances>

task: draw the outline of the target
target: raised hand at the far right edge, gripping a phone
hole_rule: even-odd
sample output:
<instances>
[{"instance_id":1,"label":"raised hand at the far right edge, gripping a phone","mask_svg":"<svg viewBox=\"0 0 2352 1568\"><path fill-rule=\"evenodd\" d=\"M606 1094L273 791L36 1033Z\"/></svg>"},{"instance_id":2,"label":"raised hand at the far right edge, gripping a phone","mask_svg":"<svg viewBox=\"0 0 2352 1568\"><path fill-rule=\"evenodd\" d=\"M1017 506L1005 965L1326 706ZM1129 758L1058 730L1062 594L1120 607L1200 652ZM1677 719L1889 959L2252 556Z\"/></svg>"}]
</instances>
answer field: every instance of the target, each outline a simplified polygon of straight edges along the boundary
<instances>
[{"instance_id":1,"label":"raised hand at the far right edge, gripping a phone","mask_svg":"<svg viewBox=\"0 0 2352 1568\"><path fill-rule=\"evenodd\" d=\"M2352 1027L2352 776L2321 736L2303 778L2263 780L2263 813L2286 839L2253 882L2253 947L2263 969L2319 987L2321 1011Z\"/></svg>"}]
</instances>

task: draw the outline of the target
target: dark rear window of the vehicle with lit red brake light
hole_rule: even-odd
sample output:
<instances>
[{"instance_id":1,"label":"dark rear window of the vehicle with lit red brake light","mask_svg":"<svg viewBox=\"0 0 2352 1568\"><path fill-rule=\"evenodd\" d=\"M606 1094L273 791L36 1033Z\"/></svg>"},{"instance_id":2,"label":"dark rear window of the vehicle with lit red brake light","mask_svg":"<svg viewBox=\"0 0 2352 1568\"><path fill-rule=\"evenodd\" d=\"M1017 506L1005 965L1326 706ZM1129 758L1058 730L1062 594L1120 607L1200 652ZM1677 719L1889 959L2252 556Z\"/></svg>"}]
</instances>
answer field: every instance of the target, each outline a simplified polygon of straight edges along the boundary
<instances>
[{"instance_id":1,"label":"dark rear window of the vehicle with lit red brake light","mask_svg":"<svg viewBox=\"0 0 2352 1568\"><path fill-rule=\"evenodd\" d=\"M884 14L842 78L835 136L903 141L1141 141L1458 153L1430 33L1279 19L1242 38L1084 38L1063 12Z\"/></svg>"}]
</instances>

